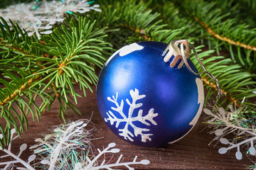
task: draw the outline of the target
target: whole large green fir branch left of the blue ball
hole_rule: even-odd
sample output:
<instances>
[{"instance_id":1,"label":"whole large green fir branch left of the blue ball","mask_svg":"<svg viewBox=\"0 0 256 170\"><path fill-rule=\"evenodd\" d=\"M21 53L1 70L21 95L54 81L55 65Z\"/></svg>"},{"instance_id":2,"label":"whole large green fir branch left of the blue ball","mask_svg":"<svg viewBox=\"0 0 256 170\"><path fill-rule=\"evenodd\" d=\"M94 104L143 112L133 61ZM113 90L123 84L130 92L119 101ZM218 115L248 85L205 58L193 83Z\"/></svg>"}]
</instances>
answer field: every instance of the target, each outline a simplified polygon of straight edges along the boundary
<instances>
[{"instance_id":1,"label":"whole large green fir branch left of the blue ball","mask_svg":"<svg viewBox=\"0 0 256 170\"><path fill-rule=\"evenodd\" d=\"M95 21L88 18L71 20L40 41L28 38L17 25L10 27L3 18L1 21L0 81L4 88L0 90L0 108L6 126L0 125L0 145L4 147L9 143L11 128L21 136L28 128L27 115L39 120L55 100L60 106L58 116L63 120L68 108L80 113L72 103L77 103L80 96L73 85L79 84L85 96L86 89L92 91L91 84L97 82L95 67L103 66L112 48L105 42L106 28L97 28ZM43 102L38 104L38 98Z\"/></svg>"}]
</instances>

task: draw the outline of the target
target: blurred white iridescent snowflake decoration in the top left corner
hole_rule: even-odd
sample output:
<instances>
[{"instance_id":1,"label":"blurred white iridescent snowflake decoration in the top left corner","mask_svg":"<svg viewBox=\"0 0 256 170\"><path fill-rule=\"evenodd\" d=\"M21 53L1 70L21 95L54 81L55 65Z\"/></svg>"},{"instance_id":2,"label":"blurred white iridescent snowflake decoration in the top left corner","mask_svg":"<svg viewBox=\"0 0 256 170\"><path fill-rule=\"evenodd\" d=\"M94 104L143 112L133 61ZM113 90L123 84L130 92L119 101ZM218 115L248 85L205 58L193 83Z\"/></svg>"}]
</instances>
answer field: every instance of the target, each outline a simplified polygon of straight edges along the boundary
<instances>
[{"instance_id":1,"label":"blurred white iridescent snowflake decoration in the top left corner","mask_svg":"<svg viewBox=\"0 0 256 170\"><path fill-rule=\"evenodd\" d=\"M86 0L33 1L0 9L0 16L7 22L11 19L13 23L18 23L18 26L26 30L29 36L36 33L40 39L40 33L50 34L53 32L51 30L53 24L64 21L65 13L100 11L98 7L97 4L90 6Z\"/></svg>"}]
</instances>

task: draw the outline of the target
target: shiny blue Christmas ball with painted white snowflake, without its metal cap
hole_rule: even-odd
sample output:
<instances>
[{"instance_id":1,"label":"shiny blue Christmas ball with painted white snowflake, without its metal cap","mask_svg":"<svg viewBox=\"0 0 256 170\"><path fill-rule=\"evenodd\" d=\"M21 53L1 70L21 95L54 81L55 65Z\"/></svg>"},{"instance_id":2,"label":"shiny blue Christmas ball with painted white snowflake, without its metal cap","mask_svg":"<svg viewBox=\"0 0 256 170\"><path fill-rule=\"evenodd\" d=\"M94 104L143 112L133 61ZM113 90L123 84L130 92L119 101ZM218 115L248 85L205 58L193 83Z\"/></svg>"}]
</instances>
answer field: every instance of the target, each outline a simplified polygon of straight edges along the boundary
<instances>
[{"instance_id":1,"label":"shiny blue Christmas ball with painted white snowflake, without its metal cap","mask_svg":"<svg viewBox=\"0 0 256 170\"><path fill-rule=\"evenodd\" d=\"M166 47L152 41L124 46L100 73L100 114L115 135L134 145L176 142L193 128L203 109L201 77L164 62ZM197 72L191 60L188 64Z\"/></svg>"}]
</instances>

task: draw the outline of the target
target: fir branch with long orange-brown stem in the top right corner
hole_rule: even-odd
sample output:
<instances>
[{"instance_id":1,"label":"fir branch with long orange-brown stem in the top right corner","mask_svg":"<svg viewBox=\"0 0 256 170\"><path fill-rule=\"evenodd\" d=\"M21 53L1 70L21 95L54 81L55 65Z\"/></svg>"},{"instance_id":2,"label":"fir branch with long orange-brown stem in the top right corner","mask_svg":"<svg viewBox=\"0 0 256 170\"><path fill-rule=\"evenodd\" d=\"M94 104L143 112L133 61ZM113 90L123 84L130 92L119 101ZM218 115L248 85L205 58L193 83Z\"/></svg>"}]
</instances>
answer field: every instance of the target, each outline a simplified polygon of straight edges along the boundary
<instances>
[{"instance_id":1,"label":"fir branch with long orange-brown stem in the top right corner","mask_svg":"<svg viewBox=\"0 0 256 170\"><path fill-rule=\"evenodd\" d=\"M224 5L231 6L228 3ZM233 6L232 9L238 8L237 6ZM215 1L183 1L176 7L182 12L181 16L191 18L191 21L198 21L198 26L202 25L201 37L207 40L206 43L208 42L210 48L216 49L218 55L220 50L225 48L230 52L233 62L248 71L255 70L252 64L256 62L255 27L240 23L239 18L223 11Z\"/></svg>"}]
</instances>

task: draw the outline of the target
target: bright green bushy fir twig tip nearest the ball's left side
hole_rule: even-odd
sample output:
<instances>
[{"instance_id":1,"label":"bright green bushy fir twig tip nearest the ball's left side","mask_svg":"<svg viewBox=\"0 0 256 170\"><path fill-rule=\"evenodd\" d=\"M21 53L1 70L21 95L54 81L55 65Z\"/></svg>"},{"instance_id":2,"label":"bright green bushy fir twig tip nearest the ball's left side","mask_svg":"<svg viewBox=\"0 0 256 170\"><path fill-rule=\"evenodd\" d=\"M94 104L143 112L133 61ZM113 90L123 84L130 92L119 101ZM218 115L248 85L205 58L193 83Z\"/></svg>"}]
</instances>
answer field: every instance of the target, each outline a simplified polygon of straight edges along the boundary
<instances>
[{"instance_id":1,"label":"bright green bushy fir twig tip nearest the ball's left side","mask_svg":"<svg viewBox=\"0 0 256 170\"><path fill-rule=\"evenodd\" d=\"M82 24L83 30L81 30L81 28L76 30L74 21L71 21L69 23L71 30L68 30L65 28L65 26L63 26L62 30L55 29L53 31L53 35L42 38L42 40L46 42L47 47L39 43L35 43L33 46L38 49L44 47L44 50L48 51L50 56L54 56L54 59L50 59L50 57L36 57L36 61L50 63L50 67L39 71L38 74L48 74L48 76L50 75L50 77L53 77L51 81L55 81L55 86L57 88L59 86L65 87L66 85L71 88L71 84L73 84L72 79L75 79L76 82L80 83L82 86L85 86L85 88L90 89L87 81L93 84L95 84L97 81L97 76L95 73L93 73L94 69L92 64L102 67L102 61L105 61L105 58L101 56L101 53L98 50L101 50L100 47L102 48L101 51L103 51L103 49L110 49L107 47L107 43L101 40L102 38L105 38L105 35L102 34L103 29L92 30L95 23L90 24L90 21L87 19L80 19L79 25ZM70 33L71 31L72 33ZM91 38L85 37L86 31L89 31L88 33L91 34ZM98 36L98 39L94 38L94 34ZM87 40L85 40L85 38L87 38ZM95 42L98 43L98 47L95 46ZM88 44L88 46L86 46L86 44ZM93 57L95 57L97 60L95 60ZM88 77L82 74L75 74L77 71L84 71L87 73ZM55 74L57 72L58 74ZM63 84L64 77L67 84ZM39 83L40 81L37 82L37 84ZM50 83L51 82L49 82L47 86L49 86ZM33 86L36 86L36 84ZM65 88L63 89L63 93L65 96ZM65 100L67 101L67 96L65 96Z\"/></svg>"}]
</instances>

